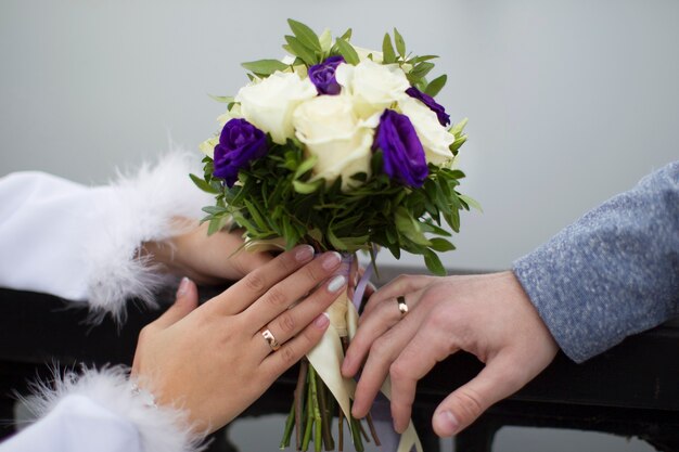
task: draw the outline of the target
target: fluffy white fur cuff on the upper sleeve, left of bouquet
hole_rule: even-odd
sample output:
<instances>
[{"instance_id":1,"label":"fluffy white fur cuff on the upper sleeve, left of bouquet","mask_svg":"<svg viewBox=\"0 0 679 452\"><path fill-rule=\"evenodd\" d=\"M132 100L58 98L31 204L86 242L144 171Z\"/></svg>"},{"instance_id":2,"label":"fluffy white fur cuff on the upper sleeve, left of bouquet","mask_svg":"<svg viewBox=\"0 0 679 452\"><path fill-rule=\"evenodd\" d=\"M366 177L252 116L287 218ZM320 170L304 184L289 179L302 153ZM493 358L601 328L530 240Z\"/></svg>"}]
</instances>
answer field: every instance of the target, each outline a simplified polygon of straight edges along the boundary
<instances>
[{"instance_id":1,"label":"fluffy white fur cuff on the upper sleeve, left of bouquet","mask_svg":"<svg viewBox=\"0 0 679 452\"><path fill-rule=\"evenodd\" d=\"M120 177L95 206L95 229L86 241L88 300L97 319L106 312L121 321L126 301L154 307L154 293L168 277L139 257L144 242L178 234L175 217L200 219L209 195L197 189L189 173L198 170L195 156L172 153L134 177Z\"/></svg>"}]
</instances>

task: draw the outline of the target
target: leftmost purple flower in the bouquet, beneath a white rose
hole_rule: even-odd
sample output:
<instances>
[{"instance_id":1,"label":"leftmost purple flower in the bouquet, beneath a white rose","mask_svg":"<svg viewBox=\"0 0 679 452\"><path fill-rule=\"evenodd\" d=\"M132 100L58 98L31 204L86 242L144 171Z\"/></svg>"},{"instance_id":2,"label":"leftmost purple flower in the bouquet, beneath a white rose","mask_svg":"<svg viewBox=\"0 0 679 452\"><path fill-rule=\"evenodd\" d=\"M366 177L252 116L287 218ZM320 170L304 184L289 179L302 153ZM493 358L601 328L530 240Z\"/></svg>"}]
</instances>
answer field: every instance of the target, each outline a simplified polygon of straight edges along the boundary
<instances>
[{"instance_id":1,"label":"leftmost purple flower in the bouquet, beneath a white rose","mask_svg":"<svg viewBox=\"0 0 679 452\"><path fill-rule=\"evenodd\" d=\"M229 188L239 178L239 170L267 153L267 135L245 119L231 119L221 129L215 146L215 176Z\"/></svg>"}]
</instances>

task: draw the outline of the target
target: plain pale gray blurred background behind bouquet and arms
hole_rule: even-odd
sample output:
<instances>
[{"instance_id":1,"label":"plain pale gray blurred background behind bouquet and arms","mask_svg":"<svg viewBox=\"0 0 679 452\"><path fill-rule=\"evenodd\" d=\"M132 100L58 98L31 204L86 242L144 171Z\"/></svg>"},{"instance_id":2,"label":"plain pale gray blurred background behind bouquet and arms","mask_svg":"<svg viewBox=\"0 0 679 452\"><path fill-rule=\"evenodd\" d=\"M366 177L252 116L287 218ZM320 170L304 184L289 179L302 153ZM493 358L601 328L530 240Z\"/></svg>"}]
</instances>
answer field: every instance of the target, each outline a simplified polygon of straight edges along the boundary
<instances>
[{"instance_id":1,"label":"plain pale gray blurred background behind bouquet and arms","mask_svg":"<svg viewBox=\"0 0 679 452\"><path fill-rule=\"evenodd\" d=\"M223 107L207 93L235 93L243 61L282 56L286 17L319 33L350 26L356 44L377 49L396 26L413 52L440 55L439 102L454 121L470 118L462 191L485 210L463 217L447 267L508 268L679 158L676 1L2 0L0 176L105 183L170 143L196 150ZM243 451L274 450L279 423L236 422L234 438ZM509 428L496 451L574 448L652 450Z\"/></svg>"}]
</instances>

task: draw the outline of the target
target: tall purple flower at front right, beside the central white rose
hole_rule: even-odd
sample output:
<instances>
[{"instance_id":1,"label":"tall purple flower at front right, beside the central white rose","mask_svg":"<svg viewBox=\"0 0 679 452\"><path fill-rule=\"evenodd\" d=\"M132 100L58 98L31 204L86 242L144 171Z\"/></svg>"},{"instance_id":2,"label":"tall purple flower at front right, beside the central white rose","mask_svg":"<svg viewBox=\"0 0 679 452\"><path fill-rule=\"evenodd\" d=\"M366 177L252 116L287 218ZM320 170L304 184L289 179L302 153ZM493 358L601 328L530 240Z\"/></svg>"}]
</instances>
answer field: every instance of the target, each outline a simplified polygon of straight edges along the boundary
<instances>
[{"instance_id":1,"label":"tall purple flower at front right, beside the central white rose","mask_svg":"<svg viewBox=\"0 0 679 452\"><path fill-rule=\"evenodd\" d=\"M384 172L409 186L422 186L430 173L424 148L408 116L385 109L372 148L383 152Z\"/></svg>"}]
</instances>

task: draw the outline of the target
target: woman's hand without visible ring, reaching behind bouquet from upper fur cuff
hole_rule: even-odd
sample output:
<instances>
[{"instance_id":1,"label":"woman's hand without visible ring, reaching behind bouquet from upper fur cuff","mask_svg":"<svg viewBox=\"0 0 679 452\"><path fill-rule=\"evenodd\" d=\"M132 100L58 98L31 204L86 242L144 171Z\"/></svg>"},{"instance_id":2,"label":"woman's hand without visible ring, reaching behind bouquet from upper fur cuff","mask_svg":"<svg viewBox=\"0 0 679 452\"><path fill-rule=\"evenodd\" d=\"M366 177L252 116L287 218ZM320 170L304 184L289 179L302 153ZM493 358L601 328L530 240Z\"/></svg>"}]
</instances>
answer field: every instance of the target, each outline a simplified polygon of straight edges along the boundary
<instances>
[{"instance_id":1,"label":"woman's hand without visible ring, reaching behind bouquet from upper fur cuff","mask_svg":"<svg viewBox=\"0 0 679 452\"><path fill-rule=\"evenodd\" d=\"M217 284L240 280L272 259L268 253L239 249L243 245L241 235L242 231L207 235L207 223L203 223L167 241L144 243L142 249L154 263L174 274L198 284Z\"/></svg>"}]
</instances>

